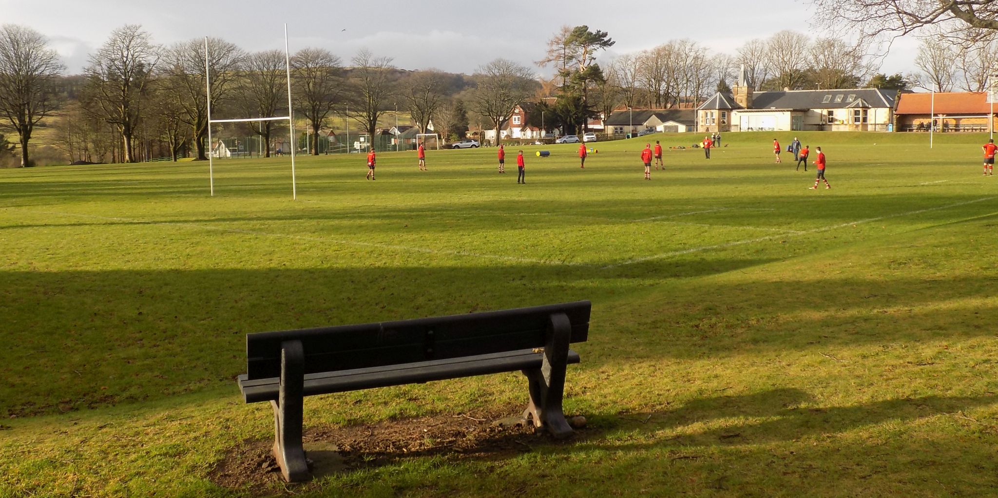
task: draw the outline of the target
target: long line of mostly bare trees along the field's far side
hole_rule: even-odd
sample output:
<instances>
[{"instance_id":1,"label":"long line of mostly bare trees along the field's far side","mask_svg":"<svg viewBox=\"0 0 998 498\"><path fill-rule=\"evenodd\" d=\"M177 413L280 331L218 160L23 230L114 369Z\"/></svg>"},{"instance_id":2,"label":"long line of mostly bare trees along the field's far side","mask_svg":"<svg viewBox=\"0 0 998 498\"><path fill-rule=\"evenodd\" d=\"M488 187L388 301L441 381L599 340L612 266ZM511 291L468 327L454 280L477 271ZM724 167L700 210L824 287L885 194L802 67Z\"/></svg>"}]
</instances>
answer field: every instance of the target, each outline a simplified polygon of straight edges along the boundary
<instances>
[{"instance_id":1,"label":"long line of mostly bare trees along the field's far side","mask_svg":"<svg viewBox=\"0 0 998 498\"><path fill-rule=\"evenodd\" d=\"M856 9L877 2L845 1ZM825 22L832 26L852 11L829 12ZM969 21L955 27L940 24L925 16L921 27L935 29L923 36L914 61L919 71L889 76L875 72L876 55L868 38L848 43L791 30L750 40L732 54L683 39L601 58L615 44L607 32L563 26L536 63L553 67L551 78L505 59L461 75L400 70L391 58L367 50L344 62L326 49L308 47L289 58L290 107L297 120L307 123L308 152L318 154L320 132L331 130L333 116L345 116L371 137L379 120L397 109L420 132L432 122L444 138L462 138L469 128L494 130L498 138L512 111L523 106L529 111L528 126L578 133L591 118L616 109L696 107L715 92L730 91L743 68L756 91L860 86L984 90L994 72L991 61L998 60L995 31ZM863 33L886 29L882 20L869 30L868 22L848 22L858 23ZM949 22L960 21L951 16ZM40 33L0 26L0 155L17 151L20 164L30 166L29 143L36 129L52 123L50 136L70 160L135 162L168 156L176 161L183 155L204 160L212 147L206 143L209 106L218 119L290 112L283 52L247 52L220 38L207 39L207 46L206 63L205 39L162 46L141 26L126 25L90 55L82 75L67 76ZM228 131L256 135L269 146L274 126L280 125L255 122L231 125ZM270 147L265 149L269 156Z\"/></svg>"}]
</instances>

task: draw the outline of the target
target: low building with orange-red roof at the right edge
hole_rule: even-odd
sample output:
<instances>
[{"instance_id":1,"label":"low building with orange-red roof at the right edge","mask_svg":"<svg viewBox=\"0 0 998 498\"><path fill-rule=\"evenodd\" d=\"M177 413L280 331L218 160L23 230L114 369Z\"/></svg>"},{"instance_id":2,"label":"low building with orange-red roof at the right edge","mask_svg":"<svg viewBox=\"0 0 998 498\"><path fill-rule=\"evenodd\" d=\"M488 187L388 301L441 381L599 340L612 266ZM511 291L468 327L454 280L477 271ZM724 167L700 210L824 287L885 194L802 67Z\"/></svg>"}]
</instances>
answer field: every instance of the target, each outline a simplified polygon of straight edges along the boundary
<instances>
[{"instance_id":1,"label":"low building with orange-red roof at the right edge","mask_svg":"<svg viewBox=\"0 0 998 498\"><path fill-rule=\"evenodd\" d=\"M988 132L995 110L984 92L905 93L894 111L899 132ZM990 119L989 119L990 117Z\"/></svg>"}]
</instances>

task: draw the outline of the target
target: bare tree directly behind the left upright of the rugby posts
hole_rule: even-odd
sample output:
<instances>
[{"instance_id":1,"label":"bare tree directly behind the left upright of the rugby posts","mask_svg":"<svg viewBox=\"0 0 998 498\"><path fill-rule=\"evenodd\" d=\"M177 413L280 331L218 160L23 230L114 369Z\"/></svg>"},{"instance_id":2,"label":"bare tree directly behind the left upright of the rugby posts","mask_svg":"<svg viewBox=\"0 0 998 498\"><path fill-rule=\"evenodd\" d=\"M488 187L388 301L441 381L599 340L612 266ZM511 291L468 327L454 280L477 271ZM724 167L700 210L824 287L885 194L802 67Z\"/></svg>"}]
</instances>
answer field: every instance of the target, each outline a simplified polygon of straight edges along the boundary
<instances>
[{"instance_id":1,"label":"bare tree directly behind the left upright of the rugby posts","mask_svg":"<svg viewBox=\"0 0 998 498\"><path fill-rule=\"evenodd\" d=\"M236 45L219 38L209 38L208 61L212 74L212 110L219 113L218 105L235 87L236 77L245 54ZM208 137L208 96L205 89L205 40L196 38L181 42L167 51L162 77L166 91L174 102L184 108L183 120L191 127L197 161L205 156Z\"/></svg>"}]
</instances>

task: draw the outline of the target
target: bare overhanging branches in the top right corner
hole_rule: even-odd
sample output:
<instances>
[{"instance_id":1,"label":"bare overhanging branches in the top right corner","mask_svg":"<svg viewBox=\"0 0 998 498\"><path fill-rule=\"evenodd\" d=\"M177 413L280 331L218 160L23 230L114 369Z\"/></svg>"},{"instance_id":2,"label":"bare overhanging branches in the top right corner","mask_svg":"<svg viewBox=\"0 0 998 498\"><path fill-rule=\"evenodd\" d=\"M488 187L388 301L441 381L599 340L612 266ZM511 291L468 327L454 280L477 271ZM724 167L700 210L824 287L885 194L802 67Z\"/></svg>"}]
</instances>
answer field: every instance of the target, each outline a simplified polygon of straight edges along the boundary
<instances>
[{"instance_id":1,"label":"bare overhanging branches in the top right corner","mask_svg":"<svg viewBox=\"0 0 998 498\"><path fill-rule=\"evenodd\" d=\"M947 36L974 41L998 30L998 0L810 0L828 31L860 42L898 37L933 26ZM844 28L839 29L839 28ZM976 28L976 29L970 29Z\"/></svg>"}]
</instances>

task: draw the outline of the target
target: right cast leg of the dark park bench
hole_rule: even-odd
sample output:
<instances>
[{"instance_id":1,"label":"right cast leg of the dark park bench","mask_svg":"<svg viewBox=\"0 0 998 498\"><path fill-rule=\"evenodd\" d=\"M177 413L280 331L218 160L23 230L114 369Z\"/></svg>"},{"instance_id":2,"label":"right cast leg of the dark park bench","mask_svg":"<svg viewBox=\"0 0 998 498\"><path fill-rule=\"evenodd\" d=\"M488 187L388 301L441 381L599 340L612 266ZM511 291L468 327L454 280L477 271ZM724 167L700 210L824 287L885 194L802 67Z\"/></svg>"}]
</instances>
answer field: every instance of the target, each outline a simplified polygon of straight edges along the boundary
<instances>
[{"instance_id":1,"label":"right cast leg of the dark park bench","mask_svg":"<svg viewBox=\"0 0 998 498\"><path fill-rule=\"evenodd\" d=\"M572 325L568 315L552 314L544 346L544 362L540 368L523 370L530 386L530 404L523 412L524 418L533 419L535 427L547 427L548 432L559 439L573 433L562 412L571 335Z\"/></svg>"}]
</instances>

